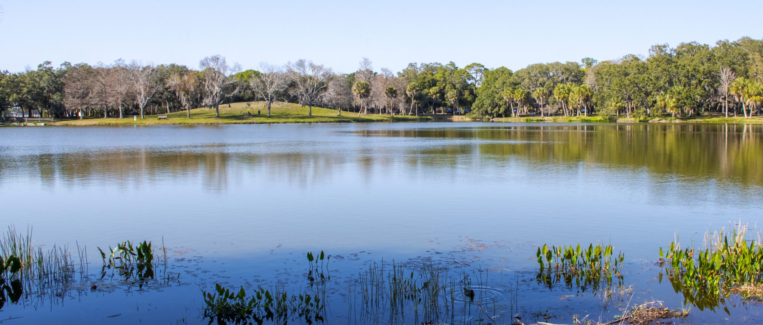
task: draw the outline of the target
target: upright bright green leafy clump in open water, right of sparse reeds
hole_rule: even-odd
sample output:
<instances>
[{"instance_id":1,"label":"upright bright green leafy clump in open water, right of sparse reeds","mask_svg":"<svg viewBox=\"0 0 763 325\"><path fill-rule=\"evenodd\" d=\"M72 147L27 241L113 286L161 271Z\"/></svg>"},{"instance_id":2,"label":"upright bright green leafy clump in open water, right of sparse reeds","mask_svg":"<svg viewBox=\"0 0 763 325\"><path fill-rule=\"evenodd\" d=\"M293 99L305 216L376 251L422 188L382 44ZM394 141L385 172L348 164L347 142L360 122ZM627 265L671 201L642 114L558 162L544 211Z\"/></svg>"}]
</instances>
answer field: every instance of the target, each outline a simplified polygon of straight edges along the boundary
<instances>
[{"instance_id":1,"label":"upright bright green leafy clump in open water, right of sparse reeds","mask_svg":"<svg viewBox=\"0 0 763 325\"><path fill-rule=\"evenodd\" d=\"M601 288L601 282L609 286L613 278L618 285L623 284L620 267L625 256L618 253L613 256L612 246L590 244L588 248L577 246L538 247L536 258L540 269L536 279L552 287L555 283L564 281L568 288L581 288L586 291L591 287L594 291Z\"/></svg>"}]
</instances>

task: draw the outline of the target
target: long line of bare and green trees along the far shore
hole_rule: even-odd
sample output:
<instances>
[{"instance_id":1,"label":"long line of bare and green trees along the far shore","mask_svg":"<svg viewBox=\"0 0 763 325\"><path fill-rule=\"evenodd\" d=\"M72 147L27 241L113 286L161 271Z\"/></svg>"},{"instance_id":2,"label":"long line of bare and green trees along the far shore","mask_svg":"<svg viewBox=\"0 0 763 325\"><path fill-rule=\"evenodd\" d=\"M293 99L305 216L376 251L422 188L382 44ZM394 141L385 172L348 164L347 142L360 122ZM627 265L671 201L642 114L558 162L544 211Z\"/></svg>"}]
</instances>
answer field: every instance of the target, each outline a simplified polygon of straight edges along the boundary
<instances>
[{"instance_id":1,"label":"long line of bare and green trees along the far shore","mask_svg":"<svg viewBox=\"0 0 763 325\"><path fill-rule=\"evenodd\" d=\"M674 117L723 113L750 117L763 104L763 41L743 37L715 45L658 44L649 56L580 63L538 63L512 71L479 63L410 63L375 71L363 59L341 74L307 60L260 64L242 71L222 56L198 69L176 64L95 66L50 62L36 70L0 73L0 113L54 117L124 117L232 101L297 102L358 114L431 114L469 108L477 118L521 114ZM219 111L219 110L218 110ZM269 110L268 110L269 111ZM309 110L311 112L311 109ZM190 113L188 113L190 114ZM308 113L311 114L311 113Z\"/></svg>"}]
</instances>

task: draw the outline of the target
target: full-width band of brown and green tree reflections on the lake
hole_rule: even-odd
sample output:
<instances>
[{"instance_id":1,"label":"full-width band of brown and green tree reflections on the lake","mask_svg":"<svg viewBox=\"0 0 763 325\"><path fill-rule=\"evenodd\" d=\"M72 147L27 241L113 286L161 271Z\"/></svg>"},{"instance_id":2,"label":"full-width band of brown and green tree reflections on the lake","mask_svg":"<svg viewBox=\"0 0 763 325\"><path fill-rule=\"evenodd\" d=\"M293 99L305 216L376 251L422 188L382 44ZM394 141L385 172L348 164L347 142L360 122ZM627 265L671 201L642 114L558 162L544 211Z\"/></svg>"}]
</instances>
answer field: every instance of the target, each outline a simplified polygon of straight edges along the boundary
<instances>
[{"instance_id":1,"label":"full-width band of brown and green tree reflections on the lake","mask_svg":"<svg viewBox=\"0 0 763 325\"><path fill-rule=\"evenodd\" d=\"M0 156L0 182L24 180L37 173L45 187L60 182L64 186L130 188L200 178L204 190L219 192L227 191L230 182L252 177L304 188L348 172L369 182L380 173L427 177L430 170L464 164L501 168L510 159L523 159L546 170L588 162L616 169L646 169L665 179L678 175L688 183L707 179L730 181L731 185L763 183L763 137L761 126L753 125L502 125L362 130L355 134L417 140L217 144Z\"/></svg>"}]
</instances>

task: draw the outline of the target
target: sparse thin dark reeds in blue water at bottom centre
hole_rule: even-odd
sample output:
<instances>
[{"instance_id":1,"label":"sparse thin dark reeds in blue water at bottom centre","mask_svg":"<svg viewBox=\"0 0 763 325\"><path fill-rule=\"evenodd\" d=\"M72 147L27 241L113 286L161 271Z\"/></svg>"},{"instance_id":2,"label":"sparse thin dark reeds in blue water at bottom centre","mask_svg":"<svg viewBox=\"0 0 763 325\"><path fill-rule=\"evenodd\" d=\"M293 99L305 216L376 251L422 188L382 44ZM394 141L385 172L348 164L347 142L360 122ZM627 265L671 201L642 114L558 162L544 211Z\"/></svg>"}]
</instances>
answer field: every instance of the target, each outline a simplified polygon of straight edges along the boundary
<instances>
[{"instance_id":1,"label":"sparse thin dark reeds in blue water at bottom centre","mask_svg":"<svg viewBox=\"0 0 763 325\"><path fill-rule=\"evenodd\" d=\"M381 317L388 318L386 323L470 323L485 320L480 317L488 316L488 311L500 317L487 282L485 269L451 275L448 268L432 262L371 262L349 289L348 314L366 323L385 323Z\"/></svg>"}]
</instances>

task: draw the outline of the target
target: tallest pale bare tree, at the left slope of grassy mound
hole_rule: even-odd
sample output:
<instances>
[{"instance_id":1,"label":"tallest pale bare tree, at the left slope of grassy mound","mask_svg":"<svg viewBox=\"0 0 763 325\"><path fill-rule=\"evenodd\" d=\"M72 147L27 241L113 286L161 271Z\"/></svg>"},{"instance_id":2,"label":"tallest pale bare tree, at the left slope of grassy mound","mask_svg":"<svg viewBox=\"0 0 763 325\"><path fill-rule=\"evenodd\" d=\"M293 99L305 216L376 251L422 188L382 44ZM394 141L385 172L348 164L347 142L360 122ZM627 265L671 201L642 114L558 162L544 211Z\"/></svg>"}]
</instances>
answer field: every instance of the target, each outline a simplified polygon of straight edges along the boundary
<instances>
[{"instance_id":1,"label":"tallest pale bare tree, at the left slope of grassy mound","mask_svg":"<svg viewBox=\"0 0 763 325\"><path fill-rule=\"evenodd\" d=\"M237 92L240 88L231 87L237 82L234 78L236 73L241 71L238 63L229 66L224 56L219 54L207 56L198 63L204 78L201 83L204 85L204 105L214 106L216 117L220 117L220 104L231 94Z\"/></svg>"}]
</instances>

